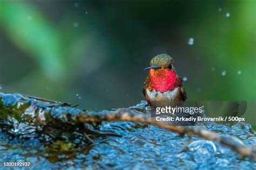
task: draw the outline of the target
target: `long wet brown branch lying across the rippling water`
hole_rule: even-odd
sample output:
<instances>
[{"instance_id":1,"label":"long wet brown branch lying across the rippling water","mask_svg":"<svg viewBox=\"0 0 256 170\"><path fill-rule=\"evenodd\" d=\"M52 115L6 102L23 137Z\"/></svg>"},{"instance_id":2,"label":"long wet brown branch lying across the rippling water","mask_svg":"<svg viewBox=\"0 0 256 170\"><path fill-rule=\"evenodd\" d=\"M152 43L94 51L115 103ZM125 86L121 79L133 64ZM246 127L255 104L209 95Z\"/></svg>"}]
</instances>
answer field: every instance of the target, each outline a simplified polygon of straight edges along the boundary
<instances>
[{"instance_id":1,"label":"long wet brown branch lying across the rippling water","mask_svg":"<svg viewBox=\"0 0 256 170\"><path fill-rule=\"evenodd\" d=\"M42 118L39 118L38 115L37 118L35 118L37 120L37 123L42 123L42 125L47 123L48 121L55 122L54 120L74 125L77 123L102 123L119 121L151 124L154 126L158 126L162 129L177 132L181 136L183 136L184 134L187 134L188 136L196 135L207 140L217 141L221 144L231 147L234 151L238 152L243 157L249 156L252 157L254 161L256 161L256 147L249 148L238 138L235 138L233 136L221 135L213 131L199 128L197 126L194 126L194 128L190 128L188 126L164 124L162 122L156 121L156 119L151 118L149 115L139 114L132 109L118 109L117 111L112 112L86 112L75 109L68 103L49 101L38 97L0 93L0 98L2 98L2 100L0 101L0 106L2 107L2 109L6 110L7 114L13 115L13 112L15 112L16 117L22 117L21 115L24 114L24 111L29 106L30 109L32 106L34 111L37 113L42 112L45 117L44 120ZM18 105L24 105L24 107L18 108ZM65 109L63 110L62 107L65 107ZM49 110L45 108L51 109ZM4 116L2 116L2 118L4 118Z\"/></svg>"}]
</instances>

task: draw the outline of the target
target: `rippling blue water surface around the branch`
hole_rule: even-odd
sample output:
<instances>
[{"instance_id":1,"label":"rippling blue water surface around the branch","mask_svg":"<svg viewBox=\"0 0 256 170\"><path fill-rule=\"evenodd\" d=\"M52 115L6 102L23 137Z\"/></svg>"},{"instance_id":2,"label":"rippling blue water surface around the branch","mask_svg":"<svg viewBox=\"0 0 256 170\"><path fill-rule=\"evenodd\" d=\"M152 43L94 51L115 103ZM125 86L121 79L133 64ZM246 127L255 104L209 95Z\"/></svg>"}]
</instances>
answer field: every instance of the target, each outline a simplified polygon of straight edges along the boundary
<instances>
[{"instance_id":1,"label":"rippling blue water surface around the branch","mask_svg":"<svg viewBox=\"0 0 256 170\"><path fill-rule=\"evenodd\" d=\"M255 169L250 158L242 158L227 146L199 137L179 134L147 124L131 122L100 125L65 123L63 111L81 110L58 106L19 95L1 94L1 162L26 161L32 168L218 168ZM6 106L9 106L6 109ZM149 114L142 102L130 109ZM55 112L57 119L43 112ZM105 110L103 112L112 112ZM64 120L65 121L62 121ZM253 147L256 137L249 124L206 126L230 134Z\"/></svg>"}]
</instances>

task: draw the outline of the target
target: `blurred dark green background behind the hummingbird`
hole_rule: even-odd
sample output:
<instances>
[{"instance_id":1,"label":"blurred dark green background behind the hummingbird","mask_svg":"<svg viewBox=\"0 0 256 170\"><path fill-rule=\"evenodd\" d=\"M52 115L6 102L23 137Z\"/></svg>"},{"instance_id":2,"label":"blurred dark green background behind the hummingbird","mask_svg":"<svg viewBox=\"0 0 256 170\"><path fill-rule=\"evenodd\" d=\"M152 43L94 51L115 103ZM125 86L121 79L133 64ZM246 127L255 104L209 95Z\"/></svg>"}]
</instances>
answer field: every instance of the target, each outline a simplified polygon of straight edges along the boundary
<instances>
[{"instance_id":1,"label":"blurred dark green background behind the hummingbird","mask_svg":"<svg viewBox=\"0 0 256 170\"><path fill-rule=\"evenodd\" d=\"M79 104L144 100L167 53L188 100L256 99L256 1L0 0L2 91Z\"/></svg>"}]
</instances>

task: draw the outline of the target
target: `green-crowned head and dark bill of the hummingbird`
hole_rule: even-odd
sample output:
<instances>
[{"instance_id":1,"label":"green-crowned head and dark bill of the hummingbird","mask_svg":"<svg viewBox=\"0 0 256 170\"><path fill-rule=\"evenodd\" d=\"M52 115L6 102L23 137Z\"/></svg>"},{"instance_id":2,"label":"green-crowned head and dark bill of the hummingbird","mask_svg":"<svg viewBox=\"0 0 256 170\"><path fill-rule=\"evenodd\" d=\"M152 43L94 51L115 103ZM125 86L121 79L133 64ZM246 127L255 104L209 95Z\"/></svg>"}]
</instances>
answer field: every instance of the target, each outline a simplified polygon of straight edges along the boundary
<instances>
[{"instance_id":1,"label":"green-crowned head and dark bill of the hummingbird","mask_svg":"<svg viewBox=\"0 0 256 170\"><path fill-rule=\"evenodd\" d=\"M158 54L154 56L150 61L150 67L145 68L144 70L148 70L151 68L169 68L172 69L173 59L168 54Z\"/></svg>"}]
</instances>

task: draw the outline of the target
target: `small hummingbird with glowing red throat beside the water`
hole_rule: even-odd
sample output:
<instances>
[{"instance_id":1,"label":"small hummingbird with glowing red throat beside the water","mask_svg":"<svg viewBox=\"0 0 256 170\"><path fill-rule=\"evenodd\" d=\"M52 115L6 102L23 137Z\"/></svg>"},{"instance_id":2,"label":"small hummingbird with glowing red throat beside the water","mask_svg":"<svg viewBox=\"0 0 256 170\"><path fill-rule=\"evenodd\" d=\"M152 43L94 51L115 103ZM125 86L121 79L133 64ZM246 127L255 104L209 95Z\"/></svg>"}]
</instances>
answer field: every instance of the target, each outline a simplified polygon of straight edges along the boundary
<instances>
[{"instance_id":1,"label":"small hummingbird with glowing red throat beside the water","mask_svg":"<svg viewBox=\"0 0 256 170\"><path fill-rule=\"evenodd\" d=\"M183 80L176 74L173 63L168 54L159 54L144 69L149 70L149 75L143 85L143 94L152 107L186 100Z\"/></svg>"}]
</instances>

